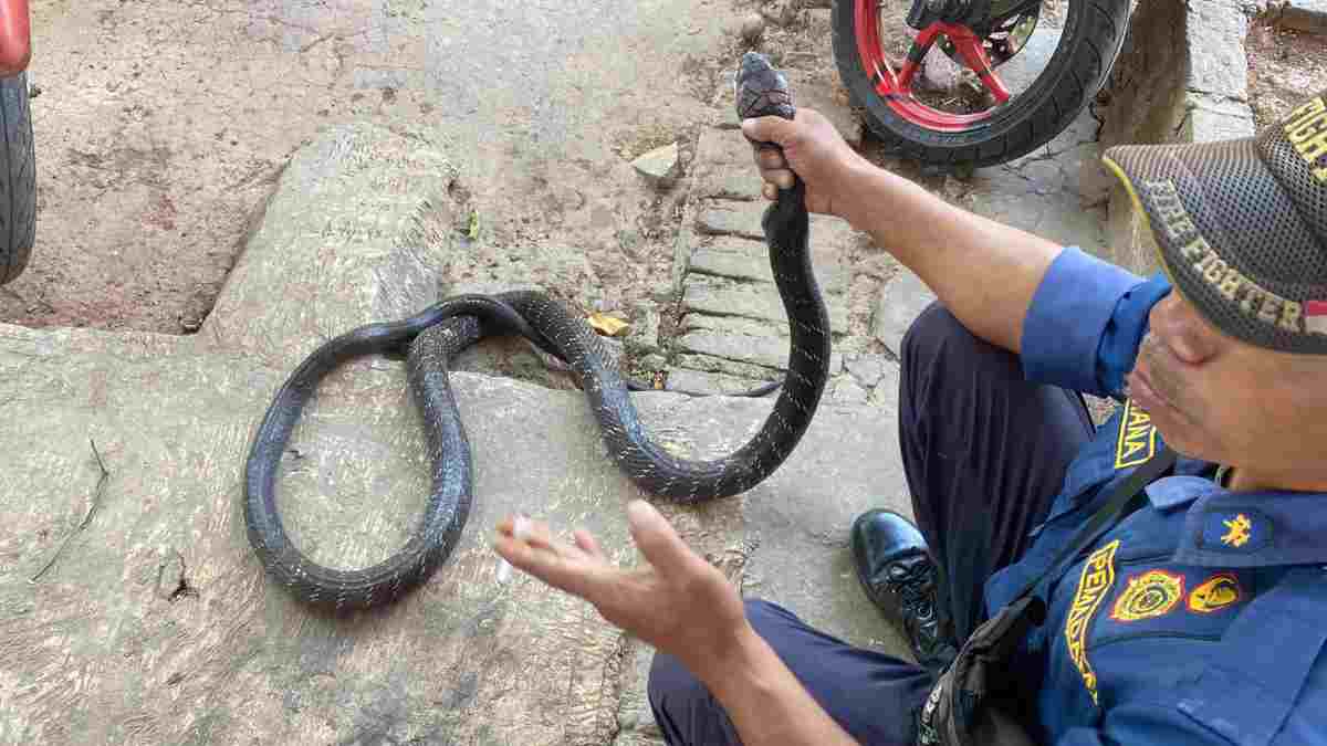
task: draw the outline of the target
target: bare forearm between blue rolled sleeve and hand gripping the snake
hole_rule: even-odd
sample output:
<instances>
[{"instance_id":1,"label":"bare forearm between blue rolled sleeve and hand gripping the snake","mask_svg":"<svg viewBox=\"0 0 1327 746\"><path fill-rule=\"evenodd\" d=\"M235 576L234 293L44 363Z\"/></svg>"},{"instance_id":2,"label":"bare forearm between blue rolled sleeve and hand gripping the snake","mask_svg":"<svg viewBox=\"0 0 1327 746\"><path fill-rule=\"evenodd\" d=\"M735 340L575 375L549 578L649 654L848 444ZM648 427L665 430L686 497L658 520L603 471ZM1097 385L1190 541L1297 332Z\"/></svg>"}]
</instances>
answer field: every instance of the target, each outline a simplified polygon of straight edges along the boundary
<instances>
[{"instance_id":1,"label":"bare forearm between blue rolled sleeve and hand gripping the snake","mask_svg":"<svg viewBox=\"0 0 1327 746\"><path fill-rule=\"evenodd\" d=\"M1062 247L864 161L845 178L835 211L916 272L974 335L1019 352L1027 307Z\"/></svg>"}]
</instances>

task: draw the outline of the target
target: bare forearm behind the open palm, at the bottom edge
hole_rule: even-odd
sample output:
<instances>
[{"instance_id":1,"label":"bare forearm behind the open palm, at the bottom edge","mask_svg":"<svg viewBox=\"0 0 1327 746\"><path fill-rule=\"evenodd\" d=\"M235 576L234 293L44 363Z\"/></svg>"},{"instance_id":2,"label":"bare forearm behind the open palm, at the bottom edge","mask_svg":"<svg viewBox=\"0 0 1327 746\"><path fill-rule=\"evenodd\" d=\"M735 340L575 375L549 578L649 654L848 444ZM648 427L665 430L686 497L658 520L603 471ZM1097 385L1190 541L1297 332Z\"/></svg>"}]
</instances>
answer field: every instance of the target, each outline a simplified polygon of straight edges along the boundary
<instances>
[{"instance_id":1,"label":"bare forearm behind the open palm, at the bottom edge","mask_svg":"<svg viewBox=\"0 0 1327 746\"><path fill-rule=\"evenodd\" d=\"M723 705L746 746L856 743L754 631L722 661L699 669L697 676Z\"/></svg>"}]
</instances>

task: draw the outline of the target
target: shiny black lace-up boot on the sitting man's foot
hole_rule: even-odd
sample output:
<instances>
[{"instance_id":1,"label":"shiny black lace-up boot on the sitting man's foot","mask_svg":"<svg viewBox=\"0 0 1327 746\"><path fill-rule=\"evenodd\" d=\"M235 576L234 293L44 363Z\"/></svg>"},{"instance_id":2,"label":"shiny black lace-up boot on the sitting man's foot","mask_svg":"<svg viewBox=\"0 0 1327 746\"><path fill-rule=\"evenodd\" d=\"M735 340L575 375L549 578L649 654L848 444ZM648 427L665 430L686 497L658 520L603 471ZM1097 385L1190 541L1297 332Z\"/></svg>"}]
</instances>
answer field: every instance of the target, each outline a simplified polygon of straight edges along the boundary
<instances>
[{"instance_id":1,"label":"shiny black lace-up boot on the sitting man's foot","mask_svg":"<svg viewBox=\"0 0 1327 746\"><path fill-rule=\"evenodd\" d=\"M936 608L936 564L904 516L872 510L852 524L852 560L863 591L901 629L917 662L940 672L958 653Z\"/></svg>"}]
</instances>

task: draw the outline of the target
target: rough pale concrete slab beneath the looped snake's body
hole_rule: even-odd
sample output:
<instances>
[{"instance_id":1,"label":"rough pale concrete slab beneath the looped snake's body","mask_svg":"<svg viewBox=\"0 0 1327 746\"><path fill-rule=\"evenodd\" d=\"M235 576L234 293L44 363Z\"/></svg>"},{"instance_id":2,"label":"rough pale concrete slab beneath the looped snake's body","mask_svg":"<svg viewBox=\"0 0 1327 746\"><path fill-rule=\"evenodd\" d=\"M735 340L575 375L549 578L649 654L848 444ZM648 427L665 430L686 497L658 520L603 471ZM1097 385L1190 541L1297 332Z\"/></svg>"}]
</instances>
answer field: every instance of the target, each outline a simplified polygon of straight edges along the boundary
<instances>
[{"instance_id":1,"label":"rough pale concrete slab beneath the looped snake's body","mask_svg":"<svg viewBox=\"0 0 1327 746\"><path fill-rule=\"evenodd\" d=\"M324 210L279 208L267 219L322 216L322 228L340 235L344 211L328 200L358 198L337 191L338 174L401 147L398 137L326 133L309 147L334 154L313 158L321 177L280 187L324 195ZM427 149L415 142L414 150ZM293 236L288 227L264 226L206 335L0 324L9 422L0 447L0 495L9 500L0 532L0 741L649 742L638 676L649 650L587 604L520 573L499 584L488 546L500 516L525 511L561 534L587 527L610 556L638 561L621 506L640 492L609 461L577 392L453 376L475 458L474 508L449 563L393 607L311 613L271 584L248 546L242 465L272 394L312 344L305 336L376 320L382 288L417 271L382 248L407 246L409 222L382 231L344 235L329 258L276 240ZM287 527L314 560L365 567L411 530L427 469L409 398L402 365L376 357L318 388L277 486ZM634 401L657 438L697 458L739 446L771 408L664 392ZM89 439L109 471L100 494ZM847 564L855 515L906 511L901 485L896 422L827 402L763 485L695 508L660 504L744 591L832 634L902 654Z\"/></svg>"}]
</instances>

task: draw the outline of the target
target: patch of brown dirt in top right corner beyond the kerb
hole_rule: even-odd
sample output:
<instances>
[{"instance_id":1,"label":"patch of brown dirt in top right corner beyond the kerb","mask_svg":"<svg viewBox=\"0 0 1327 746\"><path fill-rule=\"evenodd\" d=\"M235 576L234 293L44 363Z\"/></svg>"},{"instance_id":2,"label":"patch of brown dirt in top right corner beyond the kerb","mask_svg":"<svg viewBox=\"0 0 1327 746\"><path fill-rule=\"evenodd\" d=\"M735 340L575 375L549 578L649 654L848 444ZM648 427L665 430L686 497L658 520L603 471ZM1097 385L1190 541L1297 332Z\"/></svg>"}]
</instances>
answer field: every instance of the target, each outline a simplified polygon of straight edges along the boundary
<instances>
[{"instance_id":1,"label":"patch of brown dirt in top right corner beyond the kerb","mask_svg":"<svg viewBox=\"0 0 1327 746\"><path fill-rule=\"evenodd\" d=\"M1249 104L1258 127L1290 113L1327 82L1327 36L1275 25L1261 16L1249 24Z\"/></svg>"}]
</instances>

